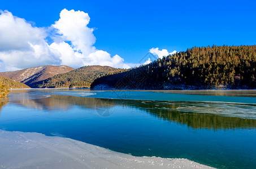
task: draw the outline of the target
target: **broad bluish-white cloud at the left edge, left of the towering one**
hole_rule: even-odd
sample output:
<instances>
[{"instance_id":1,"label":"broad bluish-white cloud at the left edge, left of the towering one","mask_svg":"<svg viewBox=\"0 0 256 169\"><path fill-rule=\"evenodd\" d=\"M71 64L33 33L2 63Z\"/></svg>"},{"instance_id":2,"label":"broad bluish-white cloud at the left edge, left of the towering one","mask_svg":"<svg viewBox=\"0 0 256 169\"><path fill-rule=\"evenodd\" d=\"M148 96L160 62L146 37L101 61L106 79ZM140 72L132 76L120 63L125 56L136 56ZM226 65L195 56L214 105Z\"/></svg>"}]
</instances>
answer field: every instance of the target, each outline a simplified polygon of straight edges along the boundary
<instances>
[{"instance_id":1,"label":"broad bluish-white cloud at the left edge, left of the towering one","mask_svg":"<svg viewBox=\"0 0 256 169\"><path fill-rule=\"evenodd\" d=\"M17 70L42 63L60 64L58 56L44 40L46 33L43 28L33 27L8 11L0 11L0 14L2 69L5 67L5 70Z\"/></svg>"}]
</instances>

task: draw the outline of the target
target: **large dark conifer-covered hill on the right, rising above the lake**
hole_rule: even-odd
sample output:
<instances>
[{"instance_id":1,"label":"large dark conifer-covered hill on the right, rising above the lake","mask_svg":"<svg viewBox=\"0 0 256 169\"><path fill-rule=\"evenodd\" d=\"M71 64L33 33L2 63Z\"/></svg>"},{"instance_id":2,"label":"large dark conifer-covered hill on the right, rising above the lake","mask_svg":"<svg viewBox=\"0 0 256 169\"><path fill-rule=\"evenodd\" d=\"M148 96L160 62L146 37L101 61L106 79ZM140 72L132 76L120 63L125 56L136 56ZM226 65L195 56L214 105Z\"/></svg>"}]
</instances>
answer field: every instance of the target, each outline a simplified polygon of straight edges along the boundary
<instances>
[{"instance_id":1,"label":"large dark conifer-covered hill on the right, rising above the lake","mask_svg":"<svg viewBox=\"0 0 256 169\"><path fill-rule=\"evenodd\" d=\"M255 89L256 46L193 47L128 72L96 79L92 88Z\"/></svg>"}]
</instances>

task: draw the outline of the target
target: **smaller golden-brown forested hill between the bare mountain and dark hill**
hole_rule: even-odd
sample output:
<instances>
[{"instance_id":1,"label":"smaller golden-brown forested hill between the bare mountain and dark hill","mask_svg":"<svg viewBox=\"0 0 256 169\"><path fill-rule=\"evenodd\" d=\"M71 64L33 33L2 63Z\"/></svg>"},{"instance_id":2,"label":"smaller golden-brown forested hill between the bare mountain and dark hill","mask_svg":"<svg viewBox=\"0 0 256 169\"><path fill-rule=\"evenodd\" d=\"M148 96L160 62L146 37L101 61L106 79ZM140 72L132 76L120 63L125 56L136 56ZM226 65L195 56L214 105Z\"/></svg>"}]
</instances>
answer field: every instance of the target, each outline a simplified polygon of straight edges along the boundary
<instances>
[{"instance_id":1,"label":"smaller golden-brown forested hill between the bare mountain and dark hill","mask_svg":"<svg viewBox=\"0 0 256 169\"><path fill-rule=\"evenodd\" d=\"M125 72L125 69L110 66L83 66L67 73L58 74L33 84L33 88L90 87L90 84L104 75Z\"/></svg>"}]
</instances>

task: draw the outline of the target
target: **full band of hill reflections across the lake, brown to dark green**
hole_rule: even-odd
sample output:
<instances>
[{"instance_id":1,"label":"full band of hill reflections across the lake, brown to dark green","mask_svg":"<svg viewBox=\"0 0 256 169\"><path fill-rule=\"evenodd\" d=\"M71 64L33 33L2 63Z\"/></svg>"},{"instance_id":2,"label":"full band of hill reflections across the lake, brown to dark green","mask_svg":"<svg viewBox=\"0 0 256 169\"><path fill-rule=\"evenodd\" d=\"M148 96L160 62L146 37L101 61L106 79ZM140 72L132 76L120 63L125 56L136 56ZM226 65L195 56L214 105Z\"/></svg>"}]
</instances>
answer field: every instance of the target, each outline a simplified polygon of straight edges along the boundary
<instances>
[{"instance_id":1,"label":"full band of hill reflections across the lake, brown to dark green","mask_svg":"<svg viewBox=\"0 0 256 169\"><path fill-rule=\"evenodd\" d=\"M17 103L36 109L62 109L66 110L72 105L84 108L113 108L115 105L127 106L143 110L155 117L186 124L195 129L236 129L256 128L256 119L228 117L229 112L240 107L255 110L255 105L235 105L223 103L196 103L184 101L142 101L142 100L114 100L98 99L92 97L75 97L67 95L52 95L51 97L34 100L21 100ZM222 111L222 112L220 112ZM225 112L226 111L226 112ZM219 114L216 114L220 112Z\"/></svg>"}]
</instances>

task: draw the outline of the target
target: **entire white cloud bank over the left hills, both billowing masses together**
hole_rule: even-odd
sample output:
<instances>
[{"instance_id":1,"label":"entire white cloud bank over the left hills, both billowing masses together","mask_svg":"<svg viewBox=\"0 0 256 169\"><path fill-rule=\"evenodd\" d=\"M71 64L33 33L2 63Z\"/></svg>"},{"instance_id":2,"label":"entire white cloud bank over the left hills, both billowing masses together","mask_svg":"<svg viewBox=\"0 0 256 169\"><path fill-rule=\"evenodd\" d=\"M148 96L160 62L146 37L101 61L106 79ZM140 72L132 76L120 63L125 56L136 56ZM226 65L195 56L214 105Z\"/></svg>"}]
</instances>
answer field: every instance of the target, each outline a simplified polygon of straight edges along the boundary
<instances>
[{"instance_id":1,"label":"entire white cloud bank over the left hills, both billowing masses together","mask_svg":"<svg viewBox=\"0 0 256 169\"><path fill-rule=\"evenodd\" d=\"M49 28L37 28L11 12L0 11L1 71L39 65L108 65L129 68L124 59L94 47L96 37L88 28L90 17L83 11L60 12L60 18ZM48 32L47 30L52 30ZM52 38L48 44L46 38Z\"/></svg>"}]
</instances>

